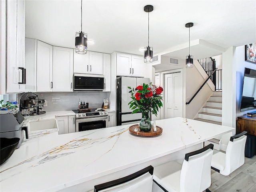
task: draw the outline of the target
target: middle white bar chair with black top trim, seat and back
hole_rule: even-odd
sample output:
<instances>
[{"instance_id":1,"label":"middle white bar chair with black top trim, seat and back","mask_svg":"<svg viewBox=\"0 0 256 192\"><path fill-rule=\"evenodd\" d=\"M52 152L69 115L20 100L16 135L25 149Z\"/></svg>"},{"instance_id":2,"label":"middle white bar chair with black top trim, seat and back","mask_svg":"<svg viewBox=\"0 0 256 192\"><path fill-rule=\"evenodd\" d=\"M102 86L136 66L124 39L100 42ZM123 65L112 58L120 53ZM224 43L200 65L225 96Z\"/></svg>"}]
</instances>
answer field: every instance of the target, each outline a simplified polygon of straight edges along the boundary
<instances>
[{"instance_id":1,"label":"middle white bar chair with black top trim, seat and back","mask_svg":"<svg viewBox=\"0 0 256 192\"><path fill-rule=\"evenodd\" d=\"M153 181L164 192L209 192L212 154L213 144L209 144L200 150L185 154L182 165L170 161L156 166Z\"/></svg>"}]
</instances>

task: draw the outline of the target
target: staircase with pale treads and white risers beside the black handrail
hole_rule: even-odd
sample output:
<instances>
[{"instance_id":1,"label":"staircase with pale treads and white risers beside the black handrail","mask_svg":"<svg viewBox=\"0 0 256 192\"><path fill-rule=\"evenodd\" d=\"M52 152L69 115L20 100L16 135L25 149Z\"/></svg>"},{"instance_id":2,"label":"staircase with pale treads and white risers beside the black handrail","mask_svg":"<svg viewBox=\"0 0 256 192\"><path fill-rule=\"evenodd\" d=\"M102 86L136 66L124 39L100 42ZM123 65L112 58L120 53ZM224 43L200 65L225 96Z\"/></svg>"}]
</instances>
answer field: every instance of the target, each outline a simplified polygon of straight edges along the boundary
<instances>
[{"instance_id":1,"label":"staircase with pale treads and white risers beside the black handrail","mask_svg":"<svg viewBox=\"0 0 256 192\"><path fill-rule=\"evenodd\" d=\"M213 124L222 124L222 91L214 91L205 106L196 115L194 120ZM205 145L214 144L214 149L220 150L221 136L205 142Z\"/></svg>"}]
</instances>

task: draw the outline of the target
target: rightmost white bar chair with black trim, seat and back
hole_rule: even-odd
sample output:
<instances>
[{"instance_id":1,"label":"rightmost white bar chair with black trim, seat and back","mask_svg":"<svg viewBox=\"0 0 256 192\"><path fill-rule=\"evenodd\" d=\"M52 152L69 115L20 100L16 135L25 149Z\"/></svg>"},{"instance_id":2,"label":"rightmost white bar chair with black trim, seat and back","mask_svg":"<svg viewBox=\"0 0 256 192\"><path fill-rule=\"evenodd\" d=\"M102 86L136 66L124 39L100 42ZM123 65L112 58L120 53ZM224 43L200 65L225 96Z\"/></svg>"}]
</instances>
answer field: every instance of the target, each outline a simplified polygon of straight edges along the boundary
<instances>
[{"instance_id":1,"label":"rightmost white bar chair with black trim, seat and back","mask_svg":"<svg viewBox=\"0 0 256 192\"><path fill-rule=\"evenodd\" d=\"M247 132L230 137L226 154L216 152L212 156L212 169L222 175L228 176L234 170L244 164L244 150L247 138Z\"/></svg>"}]
</instances>

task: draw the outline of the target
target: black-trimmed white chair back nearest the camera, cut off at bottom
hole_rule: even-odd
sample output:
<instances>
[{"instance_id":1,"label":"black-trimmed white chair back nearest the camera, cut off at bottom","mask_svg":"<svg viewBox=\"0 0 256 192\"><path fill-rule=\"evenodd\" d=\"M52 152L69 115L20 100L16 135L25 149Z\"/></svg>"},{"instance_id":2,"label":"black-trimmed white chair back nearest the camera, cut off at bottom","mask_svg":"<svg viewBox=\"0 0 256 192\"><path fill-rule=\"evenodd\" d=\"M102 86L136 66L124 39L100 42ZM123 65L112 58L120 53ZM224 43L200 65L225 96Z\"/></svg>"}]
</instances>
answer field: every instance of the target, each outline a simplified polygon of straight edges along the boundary
<instances>
[{"instance_id":1,"label":"black-trimmed white chair back nearest the camera, cut off at bottom","mask_svg":"<svg viewBox=\"0 0 256 192\"><path fill-rule=\"evenodd\" d=\"M153 167L150 165L126 177L94 186L94 192L151 192Z\"/></svg>"}]
</instances>

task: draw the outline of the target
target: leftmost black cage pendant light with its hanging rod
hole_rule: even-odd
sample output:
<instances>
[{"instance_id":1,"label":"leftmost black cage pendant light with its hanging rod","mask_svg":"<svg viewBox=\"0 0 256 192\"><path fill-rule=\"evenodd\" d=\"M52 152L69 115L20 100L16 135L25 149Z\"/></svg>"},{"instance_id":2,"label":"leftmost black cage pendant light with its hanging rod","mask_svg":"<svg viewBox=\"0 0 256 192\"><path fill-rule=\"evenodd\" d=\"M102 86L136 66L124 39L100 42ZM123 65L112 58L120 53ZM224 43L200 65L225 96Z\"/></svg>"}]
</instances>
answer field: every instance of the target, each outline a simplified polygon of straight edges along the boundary
<instances>
[{"instance_id":1,"label":"leftmost black cage pendant light with its hanging rod","mask_svg":"<svg viewBox=\"0 0 256 192\"><path fill-rule=\"evenodd\" d=\"M76 32L76 53L87 53L87 33L82 32L82 0L81 0L81 31Z\"/></svg>"}]
</instances>

